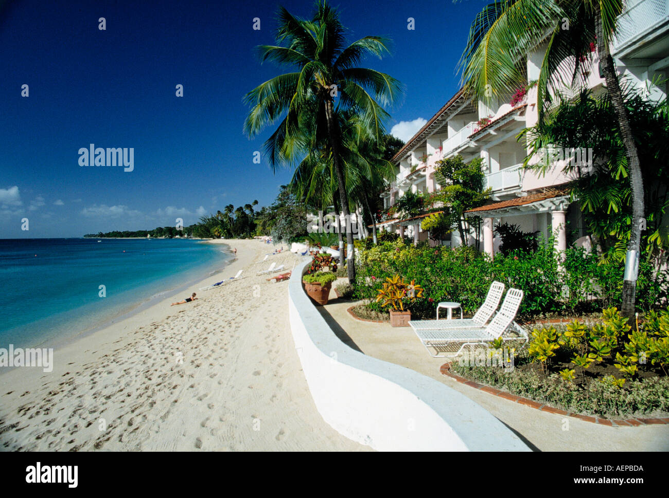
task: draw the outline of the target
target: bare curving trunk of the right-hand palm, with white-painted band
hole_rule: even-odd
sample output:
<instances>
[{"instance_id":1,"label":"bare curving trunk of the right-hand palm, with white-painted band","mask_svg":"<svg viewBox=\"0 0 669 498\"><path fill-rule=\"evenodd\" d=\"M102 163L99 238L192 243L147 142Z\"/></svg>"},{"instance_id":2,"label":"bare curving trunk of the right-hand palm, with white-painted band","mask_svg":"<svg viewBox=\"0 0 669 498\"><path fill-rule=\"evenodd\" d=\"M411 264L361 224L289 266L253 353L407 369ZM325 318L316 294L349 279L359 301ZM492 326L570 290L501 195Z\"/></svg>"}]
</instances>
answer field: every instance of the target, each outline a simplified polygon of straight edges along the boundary
<instances>
[{"instance_id":1,"label":"bare curving trunk of the right-hand palm, with white-painted band","mask_svg":"<svg viewBox=\"0 0 669 498\"><path fill-rule=\"evenodd\" d=\"M601 12L599 2L595 2L595 33L597 35L597 53L599 54L599 73L606 80L607 90L611 97L611 104L618 121L620 135L622 136L625 152L630 169L630 184L632 186L632 227L630 229L630 243L625 261L625 277L622 293L622 316L630 318L630 324L634 323L632 317L635 312L636 301L636 279L639 268L641 226L644 217L644 179L641 174L639 155L636 150L636 142L632 135L630 120L628 119L623 102L622 92L618 84L613 57L609 53L609 45L604 39Z\"/></svg>"}]
</instances>

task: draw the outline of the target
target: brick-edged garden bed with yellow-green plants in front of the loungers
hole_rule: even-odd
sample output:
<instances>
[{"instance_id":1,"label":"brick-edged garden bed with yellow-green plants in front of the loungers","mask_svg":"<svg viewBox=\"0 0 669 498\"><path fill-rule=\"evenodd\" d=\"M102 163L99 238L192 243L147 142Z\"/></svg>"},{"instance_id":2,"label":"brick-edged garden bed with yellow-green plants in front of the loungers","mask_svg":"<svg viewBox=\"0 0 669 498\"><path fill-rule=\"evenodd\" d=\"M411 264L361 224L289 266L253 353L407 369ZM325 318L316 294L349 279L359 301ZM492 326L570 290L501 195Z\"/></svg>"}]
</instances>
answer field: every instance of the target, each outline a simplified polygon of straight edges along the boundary
<instances>
[{"instance_id":1,"label":"brick-edged garden bed with yellow-green plants in front of the loungers","mask_svg":"<svg viewBox=\"0 0 669 498\"><path fill-rule=\"evenodd\" d=\"M479 348L451 370L473 382L569 412L620 418L669 416L669 313L632 330L615 308L601 323L536 326L519 352ZM493 346L494 347L494 346ZM493 356L496 352L496 356ZM502 365L513 358L513 368Z\"/></svg>"}]
</instances>

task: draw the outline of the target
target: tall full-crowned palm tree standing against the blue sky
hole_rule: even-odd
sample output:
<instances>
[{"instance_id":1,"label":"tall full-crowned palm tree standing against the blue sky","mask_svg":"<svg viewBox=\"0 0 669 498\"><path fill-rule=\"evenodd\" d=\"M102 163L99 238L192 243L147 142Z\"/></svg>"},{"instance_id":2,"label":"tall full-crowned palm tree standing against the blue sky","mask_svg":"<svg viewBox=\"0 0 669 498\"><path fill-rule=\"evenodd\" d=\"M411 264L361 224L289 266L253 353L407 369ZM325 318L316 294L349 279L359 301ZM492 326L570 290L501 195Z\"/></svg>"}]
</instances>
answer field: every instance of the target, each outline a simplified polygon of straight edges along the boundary
<instances>
[{"instance_id":1,"label":"tall full-crowned palm tree standing against the blue sky","mask_svg":"<svg viewBox=\"0 0 669 498\"><path fill-rule=\"evenodd\" d=\"M277 41L285 42L286 46L261 45L261 58L294 66L296 71L276 76L246 94L244 100L252 109L244 131L250 137L256 136L286 114L265 144L272 167L304 156L308 143L301 139L304 135L300 130L311 128L316 136L326 138L337 178L339 202L347 216L349 196L336 115L338 110L355 110L369 134L377 141L381 138L383 124L389 117L381 105L393 103L401 94L401 85L387 74L360 68L357 64L367 55L380 58L388 53L388 41L367 36L346 46L339 13L326 1L316 3L310 20L298 19L284 7L279 8L278 20ZM354 281L353 233L347 231L346 236L349 279Z\"/></svg>"}]
</instances>

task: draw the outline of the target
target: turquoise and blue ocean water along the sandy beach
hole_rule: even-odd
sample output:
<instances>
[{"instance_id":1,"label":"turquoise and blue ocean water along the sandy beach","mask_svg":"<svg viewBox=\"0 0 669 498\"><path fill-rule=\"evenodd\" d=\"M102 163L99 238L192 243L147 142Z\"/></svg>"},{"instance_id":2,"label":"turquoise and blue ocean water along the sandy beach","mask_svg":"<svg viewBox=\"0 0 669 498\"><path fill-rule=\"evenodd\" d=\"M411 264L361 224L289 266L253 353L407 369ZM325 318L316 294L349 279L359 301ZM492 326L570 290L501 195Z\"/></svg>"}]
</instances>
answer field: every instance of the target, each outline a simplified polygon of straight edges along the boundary
<instances>
[{"instance_id":1,"label":"turquoise and blue ocean water along the sandy beach","mask_svg":"<svg viewBox=\"0 0 669 498\"><path fill-rule=\"evenodd\" d=\"M0 239L0 348L58 346L168 293L185 296L233 259L227 249L188 239Z\"/></svg>"}]
</instances>

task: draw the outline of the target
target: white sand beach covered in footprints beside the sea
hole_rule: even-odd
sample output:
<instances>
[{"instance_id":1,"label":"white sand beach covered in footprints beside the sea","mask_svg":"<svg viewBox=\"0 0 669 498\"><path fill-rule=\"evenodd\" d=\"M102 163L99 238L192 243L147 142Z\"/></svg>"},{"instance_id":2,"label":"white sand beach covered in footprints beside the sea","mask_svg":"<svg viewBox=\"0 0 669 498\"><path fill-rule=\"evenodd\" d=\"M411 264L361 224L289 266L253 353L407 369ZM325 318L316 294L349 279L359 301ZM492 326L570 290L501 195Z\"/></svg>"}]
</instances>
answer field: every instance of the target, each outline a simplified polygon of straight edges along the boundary
<instances>
[{"instance_id":1,"label":"white sand beach covered in footprints beside the sea","mask_svg":"<svg viewBox=\"0 0 669 498\"><path fill-rule=\"evenodd\" d=\"M369 450L316 411L290 334L288 282L256 276L274 261L290 271L298 257L262 262L271 245L212 242L237 248L221 273L57 349L52 372L0 374L0 450ZM242 268L245 278L198 291ZM193 303L170 306L193 291Z\"/></svg>"}]
</instances>

